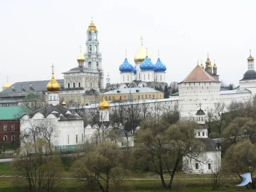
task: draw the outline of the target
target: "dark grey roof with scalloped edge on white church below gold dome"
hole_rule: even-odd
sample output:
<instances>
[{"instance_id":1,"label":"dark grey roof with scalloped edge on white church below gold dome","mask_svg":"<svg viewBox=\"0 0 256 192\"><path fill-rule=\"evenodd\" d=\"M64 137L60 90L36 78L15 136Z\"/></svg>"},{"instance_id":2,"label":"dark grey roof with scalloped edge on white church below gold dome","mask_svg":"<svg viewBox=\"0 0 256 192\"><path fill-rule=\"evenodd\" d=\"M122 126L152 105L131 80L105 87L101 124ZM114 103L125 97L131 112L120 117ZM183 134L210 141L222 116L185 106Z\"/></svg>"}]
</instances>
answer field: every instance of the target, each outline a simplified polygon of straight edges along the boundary
<instances>
[{"instance_id":1,"label":"dark grey roof with scalloped edge on white church below gold dome","mask_svg":"<svg viewBox=\"0 0 256 192\"><path fill-rule=\"evenodd\" d=\"M52 113L56 117L60 117L60 120L76 120L81 119L80 117L76 116L75 114L66 114L67 111L69 111L67 108L61 106L61 105L46 105L43 106L37 110L34 110L30 113L30 116L33 117L34 114L37 112L40 112L43 114L44 117L47 117L48 114L50 114L52 111L57 111L58 113ZM59 116L60 114L63 114L63 116Z\"/></svg>"}]
</instances>

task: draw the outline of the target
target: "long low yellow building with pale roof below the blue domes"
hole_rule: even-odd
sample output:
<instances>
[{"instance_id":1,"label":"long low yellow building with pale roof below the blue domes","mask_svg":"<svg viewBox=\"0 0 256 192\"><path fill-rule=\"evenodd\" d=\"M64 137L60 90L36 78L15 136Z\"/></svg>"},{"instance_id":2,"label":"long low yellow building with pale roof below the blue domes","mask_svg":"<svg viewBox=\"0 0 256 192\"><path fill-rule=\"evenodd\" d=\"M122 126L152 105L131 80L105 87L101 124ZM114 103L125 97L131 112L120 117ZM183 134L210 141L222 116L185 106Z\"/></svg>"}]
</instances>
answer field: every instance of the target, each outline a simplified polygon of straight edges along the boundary
<instances>
[{"instance_id":1,"label":"long low yellow building with pale roof below the blue domes","mask_svg":"<svg viewBox=\"0 0 256 192\"><path fill-rule=\"evenodd\" d=\"M107 102L113 101L132 101L145 99L162 99L164 93L150 87L133 87L115 89L100 95L100 100L105 98Z\"/></svg>"}]
</instances>

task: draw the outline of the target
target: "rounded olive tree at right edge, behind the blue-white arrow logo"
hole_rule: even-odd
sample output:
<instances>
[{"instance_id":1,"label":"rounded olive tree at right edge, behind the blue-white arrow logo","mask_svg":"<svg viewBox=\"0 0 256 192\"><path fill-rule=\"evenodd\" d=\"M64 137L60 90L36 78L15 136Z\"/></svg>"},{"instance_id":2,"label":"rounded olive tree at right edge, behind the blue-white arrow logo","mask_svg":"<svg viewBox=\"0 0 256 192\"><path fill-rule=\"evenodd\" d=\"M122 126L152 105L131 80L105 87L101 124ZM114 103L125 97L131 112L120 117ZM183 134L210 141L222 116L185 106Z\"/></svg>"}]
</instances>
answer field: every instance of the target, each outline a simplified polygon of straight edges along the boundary
<instances>
[{"instance_id":1,"label":"rounded olive tree at right edge, behind the blue-white arrow logo","mask_svg":"<svg viewBox=\"0 0 256 192\"><path fill-rule=\"evenodd\" d=\"M222 167L230 179L240 183L243 181L240 175L249 172L249 167L256 166L256 145L249 139L231 145L224 155L223 162ZM256 189L255 182L256 178L252 176L252 183L246 187Z\"/></svg>"}]
</instances>

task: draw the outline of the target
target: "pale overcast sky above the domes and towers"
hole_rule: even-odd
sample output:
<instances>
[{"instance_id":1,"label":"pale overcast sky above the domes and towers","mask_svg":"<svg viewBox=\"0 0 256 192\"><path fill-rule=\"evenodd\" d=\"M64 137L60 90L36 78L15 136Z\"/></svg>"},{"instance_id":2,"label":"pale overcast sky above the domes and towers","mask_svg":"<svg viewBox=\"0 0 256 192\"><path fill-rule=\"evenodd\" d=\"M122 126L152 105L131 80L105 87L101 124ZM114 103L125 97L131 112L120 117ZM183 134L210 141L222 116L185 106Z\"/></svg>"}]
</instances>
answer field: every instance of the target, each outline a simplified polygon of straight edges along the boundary
<instances>
[{"instance_id":1,"label":"pale overcast sky above the domes and towers","mask_svg":"<svg viewBox=\"0 0 256 192\"><path fill-rule=\"evenodd\" d=\"M50 80L77 66L85 51L90 17L98 29L102 66L119 82L119 65L140 49L140 36L151 60L167 67L166 80L182 81L207 52L220 79L238 85L252 49L256 58L254 0L1 0L0 82Z\"/></svg>"}]
</instances>

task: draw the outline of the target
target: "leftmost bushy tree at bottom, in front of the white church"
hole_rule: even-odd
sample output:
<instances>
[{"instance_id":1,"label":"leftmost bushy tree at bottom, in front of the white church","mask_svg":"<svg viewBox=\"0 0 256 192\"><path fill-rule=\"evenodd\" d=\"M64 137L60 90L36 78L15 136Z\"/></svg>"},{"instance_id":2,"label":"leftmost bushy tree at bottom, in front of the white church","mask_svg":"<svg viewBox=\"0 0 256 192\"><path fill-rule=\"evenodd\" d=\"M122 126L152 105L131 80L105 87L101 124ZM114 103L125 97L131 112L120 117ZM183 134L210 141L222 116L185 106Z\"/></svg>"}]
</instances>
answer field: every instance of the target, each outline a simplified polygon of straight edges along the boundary
<instances>
[{"instance_id":1,"label":"leftmost bushy tree at bottom, in front of the white church","mask_svg":"<svg viewBox=\"0 0 256 192\"><path fill-rule=\"evenodd\" d=\"M61 189L63 172L60 156L52 155L44 139L26 142L19 150L17 158L11 165L17 175L21 176L15 183L30 192Z\"/></svg>"}]
</instances>

